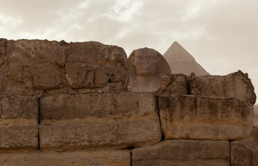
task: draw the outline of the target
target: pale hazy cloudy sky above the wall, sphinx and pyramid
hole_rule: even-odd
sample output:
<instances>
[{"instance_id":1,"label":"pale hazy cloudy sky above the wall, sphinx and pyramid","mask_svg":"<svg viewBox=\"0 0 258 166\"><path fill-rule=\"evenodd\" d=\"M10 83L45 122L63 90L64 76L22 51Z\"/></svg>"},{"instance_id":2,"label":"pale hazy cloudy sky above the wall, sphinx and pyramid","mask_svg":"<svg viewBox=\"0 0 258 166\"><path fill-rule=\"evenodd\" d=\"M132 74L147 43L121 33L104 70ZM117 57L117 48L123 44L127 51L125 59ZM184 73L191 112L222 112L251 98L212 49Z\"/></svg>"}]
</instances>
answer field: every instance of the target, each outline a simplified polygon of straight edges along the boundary
<instances>
[{"instance_id":1,"label":"pale hazy cloudy sky above the wall, sphinx and pyramid","mask_svg":"<svg viewBox=\"0 0 258 166\"><path fill-rule=\"evenodd\" d=\"M257 0L0 0L0 37L98 41L164 53L175 41L212 75L249 73L258 94Z\"/></svg>"}]
</instances>

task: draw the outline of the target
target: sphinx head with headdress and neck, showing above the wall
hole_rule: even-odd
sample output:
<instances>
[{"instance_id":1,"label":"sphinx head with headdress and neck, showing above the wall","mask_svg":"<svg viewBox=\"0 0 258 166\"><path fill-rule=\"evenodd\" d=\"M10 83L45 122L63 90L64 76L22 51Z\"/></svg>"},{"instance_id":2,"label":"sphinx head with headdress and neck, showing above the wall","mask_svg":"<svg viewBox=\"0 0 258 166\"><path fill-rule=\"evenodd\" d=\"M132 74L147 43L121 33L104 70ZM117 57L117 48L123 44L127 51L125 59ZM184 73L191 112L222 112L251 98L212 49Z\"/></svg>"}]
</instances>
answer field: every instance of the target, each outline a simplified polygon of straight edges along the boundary
<instances>
[{"instance_id":1,"label":"sphinx head with headdress and neck, showing above the wall","mask_svg":"<svg viewBox=\"0 0 258 166\"><path fill-rule=\"evenodd\" d=\"M157 91L163 74L171 73L164 57L151 48L133 50L128 57L129 91Z\"/></svg>"}]
</instances>

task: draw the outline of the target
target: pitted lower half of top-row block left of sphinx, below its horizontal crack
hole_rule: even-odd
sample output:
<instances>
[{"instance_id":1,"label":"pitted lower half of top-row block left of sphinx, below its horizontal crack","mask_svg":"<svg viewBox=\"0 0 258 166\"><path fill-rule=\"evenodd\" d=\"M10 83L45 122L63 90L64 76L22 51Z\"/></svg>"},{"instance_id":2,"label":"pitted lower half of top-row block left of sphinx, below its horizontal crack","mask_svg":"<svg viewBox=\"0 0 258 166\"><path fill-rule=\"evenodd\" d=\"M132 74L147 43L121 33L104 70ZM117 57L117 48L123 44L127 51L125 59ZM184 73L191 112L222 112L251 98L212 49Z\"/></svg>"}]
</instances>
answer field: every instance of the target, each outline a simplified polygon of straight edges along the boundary
<instances>
[{"instance_id":1,"label":"pitted lower half of top-row block left of sphinx, below its horizontal crack","mask_svg":"<svg viewBox=\"0 0 258 166\"><path fill-rule=\"evenodd\" d=\"M103 88L105 86L126 84L126 69L117 66L96 67L81 62L67 63L66 77L69 85L74 89Z\"/></svg>"}]
</instances>

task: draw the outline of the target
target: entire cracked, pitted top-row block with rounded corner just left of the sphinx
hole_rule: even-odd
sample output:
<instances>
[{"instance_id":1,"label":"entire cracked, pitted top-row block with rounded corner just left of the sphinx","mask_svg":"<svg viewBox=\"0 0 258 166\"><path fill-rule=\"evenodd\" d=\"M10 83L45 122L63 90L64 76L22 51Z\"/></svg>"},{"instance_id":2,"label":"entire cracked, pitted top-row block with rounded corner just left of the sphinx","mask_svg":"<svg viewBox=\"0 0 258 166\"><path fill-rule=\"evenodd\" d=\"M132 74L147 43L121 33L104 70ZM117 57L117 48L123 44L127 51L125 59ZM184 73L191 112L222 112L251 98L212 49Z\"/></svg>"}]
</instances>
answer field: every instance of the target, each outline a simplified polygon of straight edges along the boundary
<instances>
[{"instance_id":1,"label":"entire cracked, pitted top-row block with rounded corner just left of the sphinx","mask_svg":"<svg viewBox=\"0 0 258 166\"><path fill-rule=\"evenodd\" d=\"M128 61L123 48L99 42L71 43L66 53L66 77L72 88L126 89Z\"/></svg>"}]
</instances>

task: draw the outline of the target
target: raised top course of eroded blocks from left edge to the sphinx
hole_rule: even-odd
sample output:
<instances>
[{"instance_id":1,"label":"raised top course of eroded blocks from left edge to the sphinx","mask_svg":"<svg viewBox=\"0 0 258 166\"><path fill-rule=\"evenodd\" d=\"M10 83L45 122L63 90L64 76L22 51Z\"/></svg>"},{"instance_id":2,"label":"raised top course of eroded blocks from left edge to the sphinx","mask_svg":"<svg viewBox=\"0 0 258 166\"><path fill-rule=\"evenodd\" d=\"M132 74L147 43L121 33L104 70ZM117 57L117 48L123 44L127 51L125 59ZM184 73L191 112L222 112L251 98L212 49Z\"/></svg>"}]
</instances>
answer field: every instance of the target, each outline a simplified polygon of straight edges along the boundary
<instances>
[{"instance_id":1,"label":"raised top course of eroded blocks from left edge to the sphinx","mask_svg":"<svg viewBox=\"0 0 258 166\"><path fill-rule=\"evenodd\" d=\"M123 48L99 42L0 40L0 92L41 97L54 93L125 91ZM87 89L87 90L86 90ZM88 93L89 93L88 92Z\"/></svg>"}]
</instances>

